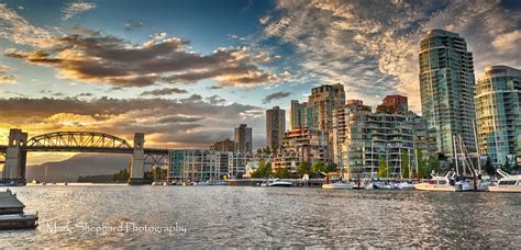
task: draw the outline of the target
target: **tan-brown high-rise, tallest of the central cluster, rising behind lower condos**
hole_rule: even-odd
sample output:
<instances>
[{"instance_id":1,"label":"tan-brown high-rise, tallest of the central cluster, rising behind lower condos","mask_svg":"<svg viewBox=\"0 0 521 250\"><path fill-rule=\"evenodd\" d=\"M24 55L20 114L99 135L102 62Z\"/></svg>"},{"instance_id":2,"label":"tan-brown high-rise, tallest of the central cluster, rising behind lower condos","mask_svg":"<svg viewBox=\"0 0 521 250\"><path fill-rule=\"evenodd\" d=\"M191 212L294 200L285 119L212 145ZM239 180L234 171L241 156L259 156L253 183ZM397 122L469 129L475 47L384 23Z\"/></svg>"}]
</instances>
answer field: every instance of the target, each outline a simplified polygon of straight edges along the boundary
<instances>
[{"instance_id":1,"label":"tan-brown high-rise, tallest of the central cluster, rising behind lower condos","mask_svg":"<svg viewBox=\"0 0 521 250\"><path fill-rule=\"evenodd\" d=\"M321 86L311 89L308 98L308 127L329 132L333 128L333 111L345 103L344 86Z\"/></svg>"}]
</instances>

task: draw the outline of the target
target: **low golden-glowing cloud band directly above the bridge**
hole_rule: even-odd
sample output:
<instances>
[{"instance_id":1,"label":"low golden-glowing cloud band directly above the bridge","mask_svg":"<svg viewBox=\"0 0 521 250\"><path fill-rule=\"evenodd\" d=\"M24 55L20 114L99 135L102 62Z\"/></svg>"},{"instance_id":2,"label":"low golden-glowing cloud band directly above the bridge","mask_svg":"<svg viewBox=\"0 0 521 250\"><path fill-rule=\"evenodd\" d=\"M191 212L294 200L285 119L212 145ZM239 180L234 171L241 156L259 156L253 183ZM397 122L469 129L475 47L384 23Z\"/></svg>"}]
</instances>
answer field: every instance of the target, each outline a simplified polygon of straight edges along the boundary
<instances>
[{"instance_id":1,"label":"low golden-glowing cloud band directly above the bridge","mask_svg":"<svg viewBox=\"0 0 521 250\"><path fill-rule=\"evenodd\" d=\"M0 99L0 134L10 127L21 127L30 136L98 130L131 140L134 133L143 132L149 147L206 148L233 137L233 127L246 123L255 130L256 146L264 143L262 109L217 100L207 102L197 94L178 100Z\"/></svg>"}]
</instances>

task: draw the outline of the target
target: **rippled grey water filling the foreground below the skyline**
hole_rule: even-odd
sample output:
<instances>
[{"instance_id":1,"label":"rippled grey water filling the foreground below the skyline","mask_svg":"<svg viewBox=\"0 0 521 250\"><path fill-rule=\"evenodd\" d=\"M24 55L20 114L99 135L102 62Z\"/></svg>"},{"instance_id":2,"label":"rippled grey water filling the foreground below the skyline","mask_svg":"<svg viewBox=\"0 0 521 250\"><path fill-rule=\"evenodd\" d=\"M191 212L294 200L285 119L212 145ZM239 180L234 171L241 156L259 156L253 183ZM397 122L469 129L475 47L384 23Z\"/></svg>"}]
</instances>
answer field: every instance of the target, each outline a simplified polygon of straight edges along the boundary
<instances>
[{"instance_id":1,"label":"rippled grey water filling the foreground below the skyline","mask_svg":"<svg viewBox=\"0 0 521 250\"><path fill-rule=\"evenodd\" d=\"M40 212L40 227L0 231L0 248L521 246L521 194L126 185L12 190L26 212Z\"/></svg>"}]
</instances>

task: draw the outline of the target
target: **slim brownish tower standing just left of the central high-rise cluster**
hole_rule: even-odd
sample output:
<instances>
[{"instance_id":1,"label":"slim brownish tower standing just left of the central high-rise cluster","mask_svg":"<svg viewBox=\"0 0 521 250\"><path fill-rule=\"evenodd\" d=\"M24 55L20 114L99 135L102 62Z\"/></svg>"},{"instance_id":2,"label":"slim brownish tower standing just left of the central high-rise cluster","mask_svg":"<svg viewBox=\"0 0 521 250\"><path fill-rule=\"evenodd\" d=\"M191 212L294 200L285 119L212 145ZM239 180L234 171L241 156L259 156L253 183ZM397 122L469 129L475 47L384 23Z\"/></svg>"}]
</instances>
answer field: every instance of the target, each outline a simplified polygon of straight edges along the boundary
<instances>
[{"instance_id":1,"label":"slim brownish tower standing just left of the central high-rise cluster","mask_svg":"<svg viewBox=\"0 0 521 250\"><path fill-rule=\"evenodd\" d=\"M277 149L282 145L284 133L286 132L286 111L279 106L274 106L266 111L266 144L271 149Z\"/></svg>"}]
</instances>

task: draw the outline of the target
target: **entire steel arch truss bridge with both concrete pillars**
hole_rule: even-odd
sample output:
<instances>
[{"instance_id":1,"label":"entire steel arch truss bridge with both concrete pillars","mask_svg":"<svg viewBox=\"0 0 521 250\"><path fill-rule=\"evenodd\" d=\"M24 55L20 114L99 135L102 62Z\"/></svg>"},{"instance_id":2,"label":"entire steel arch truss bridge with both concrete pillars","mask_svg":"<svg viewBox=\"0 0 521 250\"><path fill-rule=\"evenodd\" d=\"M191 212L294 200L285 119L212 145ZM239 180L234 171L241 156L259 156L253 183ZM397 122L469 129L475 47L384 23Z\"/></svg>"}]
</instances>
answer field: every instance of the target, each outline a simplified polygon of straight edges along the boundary
<instances>
[{"instance_id":1,"label":"entire steel arch truss bridge with both concrete pillars","mask_svg":"<svg viewBox=\"0 0 521 250\"><path fill-rule=\"evenodd\" d=\"M3 182L24 184L27 152L97 152L132 155L130 184L144 183L144 167L168 166L167 149L145 148L145 135L134 134L134 145L125 139L98 132L54 132L27 139L27 133L10 129L9 145L0 145L4 157Z\"/></svg>"}]
</instances>

